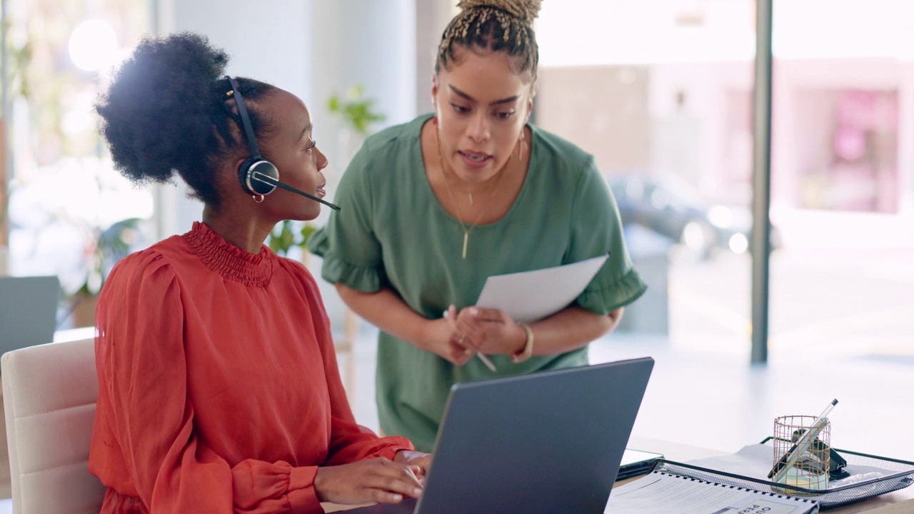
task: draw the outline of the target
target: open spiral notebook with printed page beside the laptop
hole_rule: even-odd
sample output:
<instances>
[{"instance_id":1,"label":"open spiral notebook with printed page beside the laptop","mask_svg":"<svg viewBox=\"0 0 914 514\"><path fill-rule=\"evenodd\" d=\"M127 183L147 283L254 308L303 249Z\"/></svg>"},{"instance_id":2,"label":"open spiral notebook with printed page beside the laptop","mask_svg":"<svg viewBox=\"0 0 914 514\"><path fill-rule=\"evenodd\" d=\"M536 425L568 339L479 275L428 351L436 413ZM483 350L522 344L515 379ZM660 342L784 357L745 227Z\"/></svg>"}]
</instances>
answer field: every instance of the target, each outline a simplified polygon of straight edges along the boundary
<instances>
[{"instance_id":1,"label":"open spiral notebook with printed page beside the laptop","mask_svg":"<svg viewBox=\"0 0 914 514\"><path fill-rule=\"evenodd\" d=\"M613 487L606 514L815 514L819 503L662 471Z\"/></svg>"}]
</instances>

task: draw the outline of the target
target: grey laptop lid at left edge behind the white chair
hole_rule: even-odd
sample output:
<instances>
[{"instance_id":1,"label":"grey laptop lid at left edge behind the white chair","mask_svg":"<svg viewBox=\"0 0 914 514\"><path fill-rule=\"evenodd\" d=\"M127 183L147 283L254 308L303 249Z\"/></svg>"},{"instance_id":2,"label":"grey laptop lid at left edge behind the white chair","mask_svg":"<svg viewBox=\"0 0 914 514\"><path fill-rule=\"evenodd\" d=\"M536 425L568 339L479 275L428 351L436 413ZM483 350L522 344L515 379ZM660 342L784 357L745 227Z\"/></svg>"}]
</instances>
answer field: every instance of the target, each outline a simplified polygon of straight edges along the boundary
<instances>
[{"instance_id":1,"label":"grey laptop lid at left edge behind the white chair","mask_svg":"<svg viewBox=\"0 0 914 514\"><path fill-rule=\"evenodd\" d=\"M57 276L0 276L0 354L54 340Z\"/></svg>"}]
</instances>

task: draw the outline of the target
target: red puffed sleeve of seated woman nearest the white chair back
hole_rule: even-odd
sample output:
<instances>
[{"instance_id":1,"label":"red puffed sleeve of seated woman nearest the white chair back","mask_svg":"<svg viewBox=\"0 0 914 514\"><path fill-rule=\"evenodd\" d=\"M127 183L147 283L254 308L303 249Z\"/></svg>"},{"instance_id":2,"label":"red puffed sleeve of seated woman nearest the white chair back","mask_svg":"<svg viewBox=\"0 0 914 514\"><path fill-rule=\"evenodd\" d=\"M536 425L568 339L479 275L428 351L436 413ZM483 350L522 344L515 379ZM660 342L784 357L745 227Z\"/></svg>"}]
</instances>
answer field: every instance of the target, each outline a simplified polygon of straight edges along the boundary
<instances>
[{"instance_id":1,"label":"red puffed sleeve of seated woman nearest the white chair back","mask_svg":"<svg viewBox=\"0 0 914 514\"><path fill-rule=\"evenodd\" d=\"M138 497L152 513L323 512L316 466L232 467L198 439L187 400L184 294L154 252L119 262L102 291L90 471L110 487L106 502Z\"/></svg>"}]
</instances>

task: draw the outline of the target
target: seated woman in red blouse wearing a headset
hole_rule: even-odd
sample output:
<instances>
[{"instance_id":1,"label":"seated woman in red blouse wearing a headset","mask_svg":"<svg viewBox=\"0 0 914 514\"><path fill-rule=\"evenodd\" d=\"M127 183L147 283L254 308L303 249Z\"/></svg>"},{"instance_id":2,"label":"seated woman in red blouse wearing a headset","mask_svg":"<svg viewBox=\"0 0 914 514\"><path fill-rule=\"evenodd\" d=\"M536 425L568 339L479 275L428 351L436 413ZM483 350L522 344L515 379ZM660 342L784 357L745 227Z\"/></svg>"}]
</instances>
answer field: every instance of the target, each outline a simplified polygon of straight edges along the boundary
<instances>
[{"instance_id":1,"label":"seated woman in red blouse wearing a headset","mask_svg":"<svg viewBox=\"0 0 914 514\"><path fill-rule=\"evenodd\" d=\"M89 459L108 487L101 511L306 513L416 497L430 455L356 424L314 278L263 244L320 204L252 181L249 159L260 150L283 182L323 197L311 115L288 91L223 77L227 63L205 37L148 38L97 105L124 176L176 173L205 204L189 232L118 262L101 292Z\"/></svg>"}]
</instances>

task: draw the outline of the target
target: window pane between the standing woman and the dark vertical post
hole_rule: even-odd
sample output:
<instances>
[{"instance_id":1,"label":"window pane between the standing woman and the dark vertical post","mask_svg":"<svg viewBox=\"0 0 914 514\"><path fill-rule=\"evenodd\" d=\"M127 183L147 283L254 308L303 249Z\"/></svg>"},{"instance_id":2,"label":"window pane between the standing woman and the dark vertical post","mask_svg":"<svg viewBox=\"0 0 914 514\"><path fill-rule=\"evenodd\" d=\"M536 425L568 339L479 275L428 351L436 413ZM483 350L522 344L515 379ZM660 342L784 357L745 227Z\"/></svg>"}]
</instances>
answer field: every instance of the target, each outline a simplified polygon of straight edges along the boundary
<instances>
[{"instance_id":1,"label":"window pane between the standing woman and the dark vertical post","mask_svg":"<svg viewBox=\"0 0 914 514\"><path fill-rule=\"evenodd\" d=\"M748 355L754 10L543 3L537 123L595 155L650 288L616 337Z\"/></svg>"}]
</instances>

